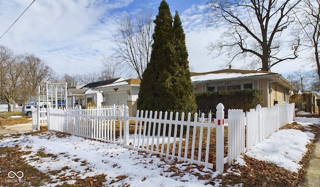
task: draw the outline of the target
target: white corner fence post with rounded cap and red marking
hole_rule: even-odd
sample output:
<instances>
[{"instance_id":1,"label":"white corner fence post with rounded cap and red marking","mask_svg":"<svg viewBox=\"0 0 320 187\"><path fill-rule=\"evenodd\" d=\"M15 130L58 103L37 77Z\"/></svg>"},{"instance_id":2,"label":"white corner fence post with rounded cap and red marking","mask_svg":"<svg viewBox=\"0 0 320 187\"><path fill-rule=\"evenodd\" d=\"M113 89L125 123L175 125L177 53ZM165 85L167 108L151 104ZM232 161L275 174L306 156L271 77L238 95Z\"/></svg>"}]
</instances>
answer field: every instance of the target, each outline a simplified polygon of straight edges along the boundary
<instances>
[{"instance_id":1,"label":"white corner fence post with rounded cap and red marking","mask_svg":"<svg viewBox=\"0 0 320 187\"><path fill-rule=\"evenodd\" d=\"M216 105L216 170L223 172L224 164L224 106L222 103Z\"/></svg>"}]
</instances>

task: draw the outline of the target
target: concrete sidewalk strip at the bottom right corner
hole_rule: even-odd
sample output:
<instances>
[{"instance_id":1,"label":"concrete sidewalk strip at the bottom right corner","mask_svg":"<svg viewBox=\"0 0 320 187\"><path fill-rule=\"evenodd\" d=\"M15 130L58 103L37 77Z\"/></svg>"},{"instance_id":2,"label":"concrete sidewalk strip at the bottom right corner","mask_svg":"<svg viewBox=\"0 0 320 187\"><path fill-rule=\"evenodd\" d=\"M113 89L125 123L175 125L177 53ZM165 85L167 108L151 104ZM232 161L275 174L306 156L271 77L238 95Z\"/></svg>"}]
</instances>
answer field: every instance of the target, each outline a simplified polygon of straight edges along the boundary
<instances>
[{"instance_id":1,"label":"concrete sidewalk strip at the bottom right corner","mask_svg":"<svg viewBox=\"0 0 320 187\"><path fill-rule=\"evenodd\" d=\"M315 142L315 150L307 168L305 186L320 186L320 139Z\"/></svg>"}]
</instances>

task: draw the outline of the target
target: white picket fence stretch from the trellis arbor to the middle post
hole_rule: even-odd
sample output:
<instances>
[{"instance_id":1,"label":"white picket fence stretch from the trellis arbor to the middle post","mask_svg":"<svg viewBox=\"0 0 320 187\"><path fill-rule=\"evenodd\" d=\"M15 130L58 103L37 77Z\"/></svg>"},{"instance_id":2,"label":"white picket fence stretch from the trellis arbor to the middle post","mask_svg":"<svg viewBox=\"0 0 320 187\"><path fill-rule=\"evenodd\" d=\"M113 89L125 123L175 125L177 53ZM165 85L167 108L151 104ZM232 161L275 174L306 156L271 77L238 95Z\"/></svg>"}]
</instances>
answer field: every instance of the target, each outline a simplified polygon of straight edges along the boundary
<instances>
[{"instance_id":1,"label":"white picket fence stretch from the trellis arbor to the middle post","mask_svg":"<svg viewBox=\"0 0 320 187\"><path fill-rule=\"evenodd\" d=\"M48 130L67 132L80 137L110 143L122 142L123 105L99 108L48 108ZM116 130L116 122L119 130ZM116 136L116 133L119 135Z\"/></svg>"}]
</instances>

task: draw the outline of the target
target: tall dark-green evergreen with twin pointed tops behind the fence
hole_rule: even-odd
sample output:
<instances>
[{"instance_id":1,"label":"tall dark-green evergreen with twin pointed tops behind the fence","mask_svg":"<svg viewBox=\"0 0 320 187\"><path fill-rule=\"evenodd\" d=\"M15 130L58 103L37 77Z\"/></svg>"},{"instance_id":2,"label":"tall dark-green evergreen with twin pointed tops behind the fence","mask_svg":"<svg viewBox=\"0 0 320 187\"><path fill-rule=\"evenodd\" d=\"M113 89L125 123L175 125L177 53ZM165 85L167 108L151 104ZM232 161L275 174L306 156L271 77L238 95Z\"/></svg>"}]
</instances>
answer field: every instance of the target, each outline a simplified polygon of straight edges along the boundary
<instances>
[{"instance_id":1,"label":"tall dark-green evergreen with twin pointed tops behind the fence","mask_svg":"<svg viewBox=\"0 0 320 187\"><path fill-rule=\"evenodd\" d=\"M150 62L143 72L137 106L144 110L194 112L194 91L180 18L172 15L165 0L153 21Z\"/></svg>"}]
</instances>

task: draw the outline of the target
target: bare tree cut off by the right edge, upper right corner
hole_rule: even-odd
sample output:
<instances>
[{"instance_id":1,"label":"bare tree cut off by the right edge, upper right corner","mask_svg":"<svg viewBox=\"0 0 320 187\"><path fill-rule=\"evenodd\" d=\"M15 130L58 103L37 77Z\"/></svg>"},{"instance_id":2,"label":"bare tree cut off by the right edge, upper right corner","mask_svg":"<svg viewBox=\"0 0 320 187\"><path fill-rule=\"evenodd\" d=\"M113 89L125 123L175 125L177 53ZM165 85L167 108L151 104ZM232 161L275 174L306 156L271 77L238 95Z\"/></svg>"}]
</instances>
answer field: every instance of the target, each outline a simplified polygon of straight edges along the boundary
<instances>
[{"instance_id":1,"label":"bare tree cut off by the right edge, upper right corner","mask_svg":"<svg viewBox=\"0 0 320 187\"><path fill-rule=\"evenodd\" d=\"M294 32L301 37L304 50L313 50L311 62L316 67L317 79L320 80L320 1L303 0L295 15L301 29L295 29Z\"/></svg>"}]
</instances>

